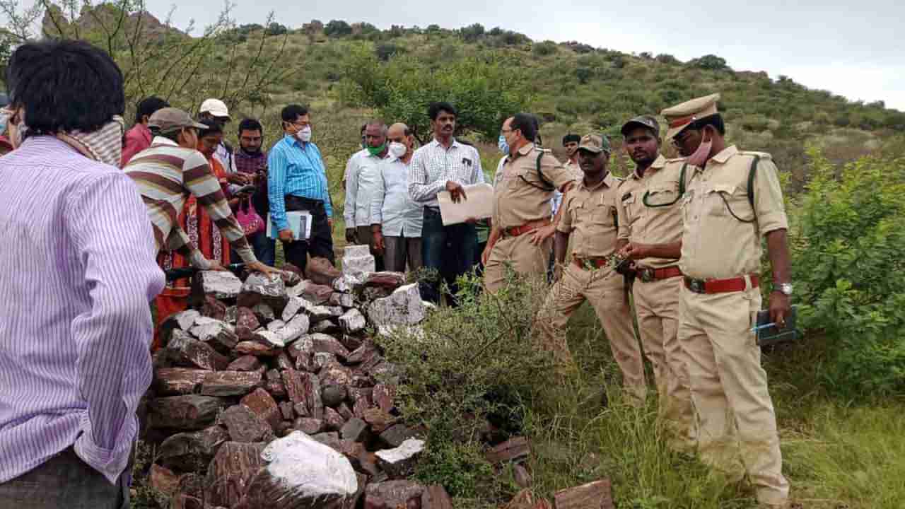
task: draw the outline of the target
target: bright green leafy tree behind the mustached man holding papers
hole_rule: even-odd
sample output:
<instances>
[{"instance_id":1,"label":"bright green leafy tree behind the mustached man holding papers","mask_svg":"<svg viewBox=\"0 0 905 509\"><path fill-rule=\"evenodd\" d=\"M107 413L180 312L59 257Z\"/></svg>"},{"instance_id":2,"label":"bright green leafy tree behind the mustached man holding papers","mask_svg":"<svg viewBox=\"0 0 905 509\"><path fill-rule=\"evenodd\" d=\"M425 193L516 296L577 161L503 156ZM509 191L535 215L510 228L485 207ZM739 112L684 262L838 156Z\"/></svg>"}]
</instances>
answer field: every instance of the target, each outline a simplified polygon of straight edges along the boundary
<instances>
[{"instance_id":1,"label":"bright green leafy tree behind the mustached man holding papers","mask_svg":"<svg viewBox=\"0 0 905 509\"><path fill-rule=\"evenodd\" d=\"M341 96L348 104L374 108L387 122L405 122L422 143L430 139L428 104L449 101L460 110L460 133L491 140L505 117L528 107L529 83L519 66L497 56L432 68L412 55L382 63L361 47L346 65Z\"/></svg>"}]
</instances>

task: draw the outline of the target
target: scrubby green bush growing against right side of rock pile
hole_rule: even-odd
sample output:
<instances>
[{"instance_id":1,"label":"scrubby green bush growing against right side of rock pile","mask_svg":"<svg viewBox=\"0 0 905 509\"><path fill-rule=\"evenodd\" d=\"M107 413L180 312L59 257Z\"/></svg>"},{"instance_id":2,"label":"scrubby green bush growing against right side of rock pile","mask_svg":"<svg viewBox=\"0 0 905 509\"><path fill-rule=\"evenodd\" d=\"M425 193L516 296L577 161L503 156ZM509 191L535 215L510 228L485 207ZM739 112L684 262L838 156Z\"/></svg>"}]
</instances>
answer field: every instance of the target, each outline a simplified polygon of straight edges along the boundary
<instances>
[{"instance_id":1,"label":"scrubby green bush growing against right side of rock pile","mask_svg":"<svg viewBox=\"0 0 905 509\"><path fill-rule=\"evenodd\" d=\"M415 474L471 498L500 482L481 455L488 421L503 435L520 432L522 401L548 387L552 361L532 336L546 284L510 275L491 295L481 292L480 278L466 276L460 288L458 308L435 310L420 332L379 341L399 368L402 415L427 430Z\"/></svg>"}]
</instances>

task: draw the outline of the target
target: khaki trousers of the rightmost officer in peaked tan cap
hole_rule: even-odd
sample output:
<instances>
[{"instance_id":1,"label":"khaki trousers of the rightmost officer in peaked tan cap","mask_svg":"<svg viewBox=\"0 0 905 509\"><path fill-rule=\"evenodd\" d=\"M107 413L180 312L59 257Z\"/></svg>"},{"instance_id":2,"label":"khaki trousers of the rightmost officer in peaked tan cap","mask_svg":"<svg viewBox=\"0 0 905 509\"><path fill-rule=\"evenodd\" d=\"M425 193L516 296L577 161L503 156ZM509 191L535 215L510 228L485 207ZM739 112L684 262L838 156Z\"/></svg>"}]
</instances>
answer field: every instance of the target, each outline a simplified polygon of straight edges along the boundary
<instances>
[{"instance_id":1,"label":"khaki trousers of the rightmost officer in peaked tan cap","mask_svg":"<svg viewBox=\"0 0 905 509\"><path fill-rule=\"evenodd\" d=\"M751 327L757 288L700 294L681 291L679 341L688 354L691 400L701 459L730 476L748 472L762 504L784 504L789 485L776 413Z\"/></svg>"}]
</instances>

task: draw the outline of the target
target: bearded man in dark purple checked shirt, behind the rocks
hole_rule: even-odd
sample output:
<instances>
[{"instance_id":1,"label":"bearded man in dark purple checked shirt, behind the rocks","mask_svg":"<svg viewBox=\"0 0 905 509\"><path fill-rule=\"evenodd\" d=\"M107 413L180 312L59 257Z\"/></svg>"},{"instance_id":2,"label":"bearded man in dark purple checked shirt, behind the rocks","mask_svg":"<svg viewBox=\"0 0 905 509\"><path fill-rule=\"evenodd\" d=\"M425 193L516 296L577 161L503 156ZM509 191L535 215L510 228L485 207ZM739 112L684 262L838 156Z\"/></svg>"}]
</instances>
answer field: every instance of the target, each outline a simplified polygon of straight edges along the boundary
<instances>
[{"instance_id":1,"label":"bearded man in dark purple checked shirt, behind the rocks","mask_svg":"<svg viewBox=\"0 0 905 509\"><path fill-rule=\"evenodd\" d=\"M251 176L253 184L257 187L250 199L243 199L240 207L250 205L251 212L266 219L270 204L267 201L267 152L262 150L263 132L261 122L258 120L243 119L239 122L239 149L233 154L233 164L238 173ZM230 189L234 192L241 187L233 184ZM251 215L246 212L242 216ZM276 241L267 237L266 227L253 234L246 232L246 236L252 244L254 255L263 264L273 266L276 259Z\"/></svg>"}]
</instances>

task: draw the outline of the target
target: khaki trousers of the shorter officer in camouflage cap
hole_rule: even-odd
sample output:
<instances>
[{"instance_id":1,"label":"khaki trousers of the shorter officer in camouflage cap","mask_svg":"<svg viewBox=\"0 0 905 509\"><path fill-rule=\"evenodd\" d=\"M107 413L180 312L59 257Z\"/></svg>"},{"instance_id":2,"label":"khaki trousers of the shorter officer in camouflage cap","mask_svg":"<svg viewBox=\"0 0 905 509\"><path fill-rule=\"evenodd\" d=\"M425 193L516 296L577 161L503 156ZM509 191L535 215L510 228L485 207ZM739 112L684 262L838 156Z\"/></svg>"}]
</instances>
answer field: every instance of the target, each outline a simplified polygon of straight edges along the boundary
<instances>
[{"instance_id":1,"label":"khaki trousers of the shorter officer in camouflage cap","mask_svg":"<svg viewBox=\"0 0 905 509\"><path fill-rule=\"evenodd\" d=\"M613 357L623 373L623 385L633 404L643 404L646 395L641 346L634 336L632 311L625 302L621 274L609 268L585 270L576 264L563 267L562 277L553 284L538 323L543 346L552 351L560 366L574 364L566 341L566 325L572 313L587 300L610 341Z\"/></svg>"}]
</instances>

